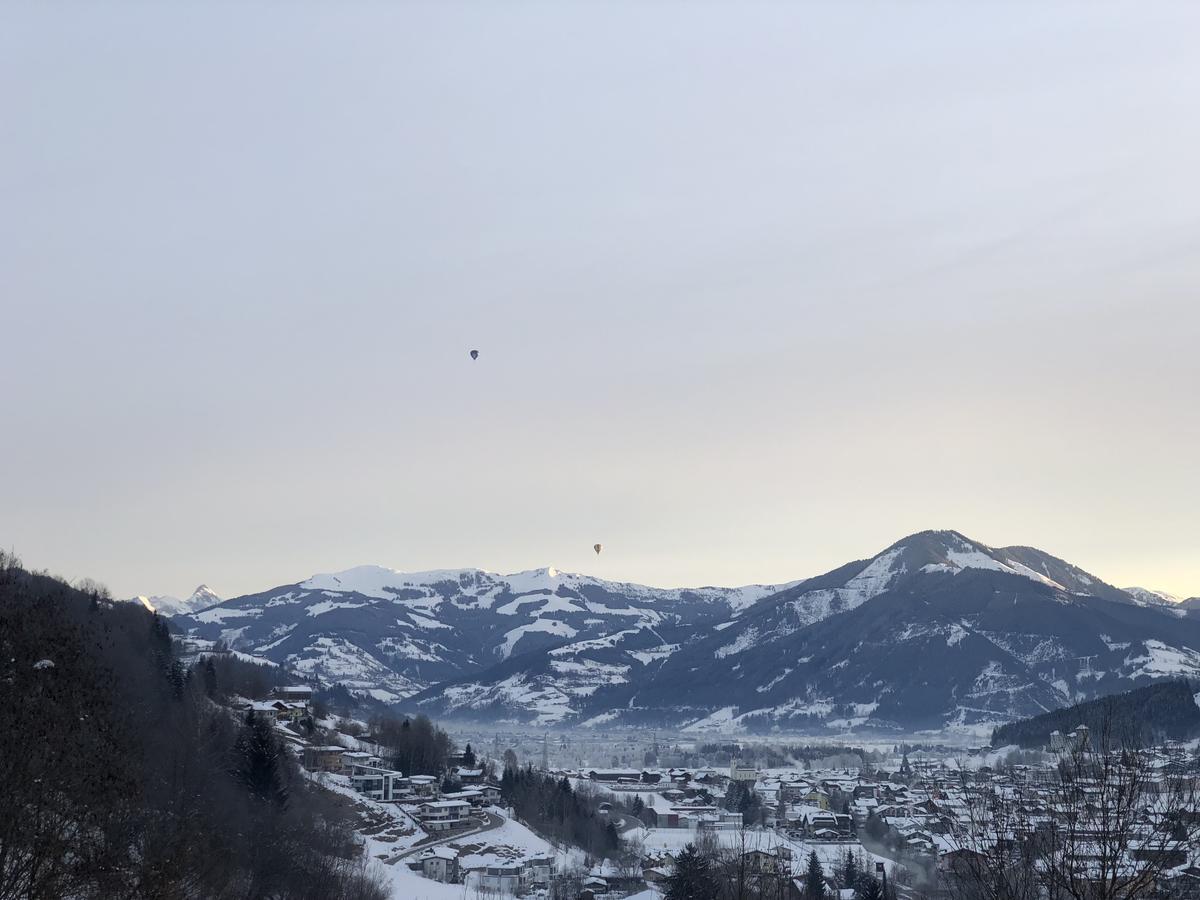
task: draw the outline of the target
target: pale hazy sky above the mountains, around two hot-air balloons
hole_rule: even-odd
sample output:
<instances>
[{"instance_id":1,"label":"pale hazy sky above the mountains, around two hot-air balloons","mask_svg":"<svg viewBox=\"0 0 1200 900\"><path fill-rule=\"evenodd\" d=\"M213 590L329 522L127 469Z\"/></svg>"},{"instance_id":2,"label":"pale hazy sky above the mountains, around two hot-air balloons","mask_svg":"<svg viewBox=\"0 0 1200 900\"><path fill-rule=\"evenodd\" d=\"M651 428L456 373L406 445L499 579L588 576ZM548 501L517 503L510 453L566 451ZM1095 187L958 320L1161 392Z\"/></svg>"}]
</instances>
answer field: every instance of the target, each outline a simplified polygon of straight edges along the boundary
<instances>
[{"instance_id":1,"label":"pale hazy sky above the mountains, around two hot-air balloons","mask_svg":"<svg viewBox=\"0 0 1200 900\"><path fill-rule=\"evenodd\" d=\"M1198 595L1198 32L5 4L0 544L229 596L770 583L955 528Z\"/></svg>"}]
</instances>

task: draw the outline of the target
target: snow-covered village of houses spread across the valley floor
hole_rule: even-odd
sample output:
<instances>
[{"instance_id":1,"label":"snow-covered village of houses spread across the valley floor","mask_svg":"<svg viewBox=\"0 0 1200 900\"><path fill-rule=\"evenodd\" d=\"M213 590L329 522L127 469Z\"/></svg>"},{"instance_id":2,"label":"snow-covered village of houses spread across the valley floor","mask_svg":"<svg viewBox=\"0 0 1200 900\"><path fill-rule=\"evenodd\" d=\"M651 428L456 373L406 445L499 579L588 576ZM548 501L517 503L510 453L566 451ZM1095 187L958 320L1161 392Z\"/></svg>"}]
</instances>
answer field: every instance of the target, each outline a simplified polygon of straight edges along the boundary
<instances>
[{"instance_id":1,"label":"snow-covered village of houses spread across the valley floor","mask_svg":"<svg viewBox=\"0 0 1200 900\"><path fill-rule=\"evenodd\" d=\"M856 757L830 745L829 757L782 766L738 757L726 764L580 766L564 762L577 761L580 745L593 740L605 750L624 746L623 754L606 754L606 762L618 763L643 744L643 763L698 761L696 748L724 761L739 744L712 752L714 745L700 740L660 746L655 734L599 740L564 733L552 740L547 732L520 732L491 740L475 734L479 749L467 743L443 773L412 774L395 767L384 748L338 731L346 727L340 720L320 722L325 743L304 739L298 724L312 716L311 698L306 686L280 686L241 708L275 724L310 779L362 806L372 857L402 890L430 898L648 900L666 889L689 846L736 859L757 886L746 896L810 898L814 864L823 895L838 900L862 896L864 880L876 881L881 896L959 896L994 859L1008 865L1021 848L1042 846L1045 835L1068 826L1066 818L1079 818L1078 810L1063 808L1063 760L1088 755L1091 740L1080 726L1055 732L1040 751L894 745L848 764ZM505 797L508 770L518 764L517 750L500 751L508 743L532 770L569 785L619 848L590 852L522 822ZM752 744L744 750L762 756ZM1091 834L1069 850L1070 865L1080 874L1105 865L1133 872L1153 859L1145 895L1200 896L1196 748L1164 744L1138 758L1147 800L1122 823L1128 858L1102 859L1100 835ZM1088 790L1094 805L1104 786ZM1166 798L1184 799L1168 809ZM1186 840L1163 835L1168 817L1176 832L1176 820L1187 821Z\"/></svg>"}]
</instances>

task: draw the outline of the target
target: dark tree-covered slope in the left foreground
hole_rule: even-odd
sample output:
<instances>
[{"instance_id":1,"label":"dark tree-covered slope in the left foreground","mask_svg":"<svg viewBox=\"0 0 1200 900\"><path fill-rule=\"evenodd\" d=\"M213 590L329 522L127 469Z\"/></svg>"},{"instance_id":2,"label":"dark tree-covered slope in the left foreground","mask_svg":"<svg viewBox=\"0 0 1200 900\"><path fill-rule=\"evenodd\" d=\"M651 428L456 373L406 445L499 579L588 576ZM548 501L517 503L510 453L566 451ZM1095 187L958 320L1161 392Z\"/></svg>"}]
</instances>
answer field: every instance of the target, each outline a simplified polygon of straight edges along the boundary
<instances>
[{"instance_id":1,"label":"dark tree-covered slope in the left foreground","mask_svg":"<svg viewBox=\"0 0 1200 900\"><path fill-rule=\"evenodd\" d=\"M342 804L140 605L0 557L0 898L385 895Z\"/></svg>"}]
</instances>

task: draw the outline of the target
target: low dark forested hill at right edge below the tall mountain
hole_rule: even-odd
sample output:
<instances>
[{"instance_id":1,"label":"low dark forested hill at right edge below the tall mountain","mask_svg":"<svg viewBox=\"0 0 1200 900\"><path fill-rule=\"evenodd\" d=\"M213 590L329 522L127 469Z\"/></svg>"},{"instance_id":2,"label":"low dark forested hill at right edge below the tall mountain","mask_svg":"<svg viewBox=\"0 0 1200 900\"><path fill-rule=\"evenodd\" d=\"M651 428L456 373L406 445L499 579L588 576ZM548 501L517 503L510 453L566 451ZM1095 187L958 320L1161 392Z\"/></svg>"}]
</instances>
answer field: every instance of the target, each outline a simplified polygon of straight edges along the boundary
<instances>
[{"instance_id":1,"label":"low dark forested hill at right edge below the tall mountain","mask_svg":"<svg viewBox=\"0 0 1200 900\"><path fill-rule=\"evenodd\" d=\"M1009 722L996 728L992 744L1042 748L1050 744L1051 732L1069 734L1080 725L1096 745L1140 748L1188 740L1200 736L1200 682L1151 684Z\"/></svg>"}]
</instances>

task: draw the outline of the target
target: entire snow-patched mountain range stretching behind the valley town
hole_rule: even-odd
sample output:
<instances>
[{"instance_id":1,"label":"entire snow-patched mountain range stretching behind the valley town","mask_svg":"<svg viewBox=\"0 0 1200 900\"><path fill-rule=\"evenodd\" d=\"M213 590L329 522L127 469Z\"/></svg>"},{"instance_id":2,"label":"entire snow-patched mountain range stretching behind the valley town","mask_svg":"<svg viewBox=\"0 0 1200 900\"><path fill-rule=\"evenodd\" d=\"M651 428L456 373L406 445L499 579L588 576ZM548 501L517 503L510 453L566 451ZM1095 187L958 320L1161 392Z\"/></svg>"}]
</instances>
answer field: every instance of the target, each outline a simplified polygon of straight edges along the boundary
<instances>
[{"instance_id":1,"label":"entire snow-patched mountain range stretching behind the valley town","mask_svg":"<svg viewBox=\"0 0 1200 900\"><path fill-rule=\"evenodd\" d=\"M174 620L443 718L898 733L1200 676L1196 606L1032 547L922 532L788 584L361 566Z\"/></svg>"}]
</instances>

